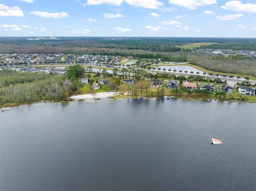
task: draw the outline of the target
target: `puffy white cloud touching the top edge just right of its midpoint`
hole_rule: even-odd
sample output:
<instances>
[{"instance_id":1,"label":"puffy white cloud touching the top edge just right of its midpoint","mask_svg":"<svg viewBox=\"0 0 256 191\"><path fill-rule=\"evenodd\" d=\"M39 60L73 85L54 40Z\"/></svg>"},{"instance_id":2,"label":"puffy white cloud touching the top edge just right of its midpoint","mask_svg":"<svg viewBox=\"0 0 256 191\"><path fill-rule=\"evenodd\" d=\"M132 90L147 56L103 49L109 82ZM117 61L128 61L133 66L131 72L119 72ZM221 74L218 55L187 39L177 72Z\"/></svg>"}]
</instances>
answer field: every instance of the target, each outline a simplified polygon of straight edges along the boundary
<instances>
[{"instance_id":1,"label":"puffy white cloud touching the top edge just right of its midpoint","mask_svg":"<svg viewBox=\"0 0 256 191\"><path fill-rule=\"evenodd\" d=\"M159 2L157 0L125 0L125 2L135 7L143 7L148 9L156 9L159 6L164 5L162 2Z\"/></svg>"}]
</instances>

